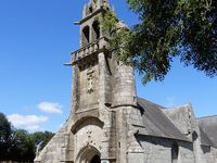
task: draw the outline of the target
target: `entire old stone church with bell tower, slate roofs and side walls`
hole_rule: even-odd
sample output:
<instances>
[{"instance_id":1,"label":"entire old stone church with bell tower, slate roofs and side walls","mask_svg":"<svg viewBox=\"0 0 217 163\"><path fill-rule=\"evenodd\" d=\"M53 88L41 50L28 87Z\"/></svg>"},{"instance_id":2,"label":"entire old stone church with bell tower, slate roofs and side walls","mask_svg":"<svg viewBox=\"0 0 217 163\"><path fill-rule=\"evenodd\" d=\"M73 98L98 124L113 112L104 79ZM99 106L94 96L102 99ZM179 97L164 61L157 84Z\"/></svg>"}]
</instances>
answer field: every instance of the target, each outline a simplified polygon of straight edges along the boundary
<instances>
[{"instance_id":1,"label":"entire old stone church with bell tower, slate roofs and side walls","mask_svg":"<svg viewBox=\"0 0 217 163\"><path fill-rule=\"evenodd\" d=\"M133 70L108 51L99 17L107 0L90 0L72 53L72 111L35 163L217 163L217 116L192 106L166 109L137 97ZM118 27L124 24L119 22Z\"/></svg>"}]
</instances>

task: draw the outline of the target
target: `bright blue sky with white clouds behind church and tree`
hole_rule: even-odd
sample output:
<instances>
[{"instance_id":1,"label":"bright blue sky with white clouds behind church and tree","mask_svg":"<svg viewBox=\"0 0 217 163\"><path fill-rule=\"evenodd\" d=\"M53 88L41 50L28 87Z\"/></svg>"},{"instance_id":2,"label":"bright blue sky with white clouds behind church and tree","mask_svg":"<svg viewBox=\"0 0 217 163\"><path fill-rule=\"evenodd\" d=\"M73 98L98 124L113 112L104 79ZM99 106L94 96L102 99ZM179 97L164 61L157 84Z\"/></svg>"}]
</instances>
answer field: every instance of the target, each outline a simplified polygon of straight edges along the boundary
<instances>
[{"instance_id":1,"label":"bright blue sky with white clouds behind church and tree","mask_svg":"<svg viewBox=\"0 0 217 163\"><path fill-rule=\"evenodd\" d=\"M0 112L17 128L56 131L69 113L72 68L63 63L79 48L88 0L0 1ZM137 22L125 0L111 0L118 17ZM138 96L165 106L191 103L196 116L217 114L217 77L208 78L175 60L163 83L141 85Z\"/></svg>"}]
</instances>

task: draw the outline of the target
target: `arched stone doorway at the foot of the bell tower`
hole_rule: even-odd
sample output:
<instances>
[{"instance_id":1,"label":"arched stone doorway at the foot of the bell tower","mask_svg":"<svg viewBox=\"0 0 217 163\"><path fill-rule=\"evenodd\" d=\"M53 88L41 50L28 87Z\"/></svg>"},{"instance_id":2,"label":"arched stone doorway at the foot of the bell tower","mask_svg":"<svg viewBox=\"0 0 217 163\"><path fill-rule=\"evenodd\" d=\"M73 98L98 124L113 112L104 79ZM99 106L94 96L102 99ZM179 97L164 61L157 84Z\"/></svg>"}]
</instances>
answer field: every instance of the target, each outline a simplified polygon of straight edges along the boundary
<instances>
[{"instance_id":1,"label":"arched stone doorway at the foot of the bell tower","mask_svg":"<svg viewBox=\"0 0 217 163\"><path fill-rule=\"evenodd\" d=\"M80 150L76 163L101 163L100 152L92 146Z\"/></svg>"}]
</instances>

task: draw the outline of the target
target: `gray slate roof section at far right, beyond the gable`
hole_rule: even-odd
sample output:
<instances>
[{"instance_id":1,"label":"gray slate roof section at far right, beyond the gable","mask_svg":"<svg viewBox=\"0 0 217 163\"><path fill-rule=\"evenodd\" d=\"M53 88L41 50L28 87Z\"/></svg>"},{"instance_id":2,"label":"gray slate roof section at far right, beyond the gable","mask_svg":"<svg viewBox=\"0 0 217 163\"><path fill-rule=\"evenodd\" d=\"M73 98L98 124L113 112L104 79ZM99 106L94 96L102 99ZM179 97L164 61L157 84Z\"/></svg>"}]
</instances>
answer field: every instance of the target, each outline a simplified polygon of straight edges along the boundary
<instances>
[{"instance_id":1,"label":"gray slate roof section at far right, beyond the gable","mask_svg":"<svg viewBox=\"0 0 217 163\"><path fill-rule=\"evenodd\" d=\"M197 118L201 143L217 148L217 115Z\"/></svg>"}]
</instances>

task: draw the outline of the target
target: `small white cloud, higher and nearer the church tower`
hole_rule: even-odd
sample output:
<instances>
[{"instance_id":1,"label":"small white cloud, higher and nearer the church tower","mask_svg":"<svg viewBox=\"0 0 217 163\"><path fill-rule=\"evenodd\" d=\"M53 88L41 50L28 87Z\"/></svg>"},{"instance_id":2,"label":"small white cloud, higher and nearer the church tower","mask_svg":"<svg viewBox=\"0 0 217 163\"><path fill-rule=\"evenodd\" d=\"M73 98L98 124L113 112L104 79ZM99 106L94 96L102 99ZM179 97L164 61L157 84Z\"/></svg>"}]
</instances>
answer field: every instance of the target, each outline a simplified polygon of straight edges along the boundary
<instances>
[{"instance_id":1,"label":"small white cloud, higher and nearer the church tower","mask_svg":"<svg viewBox=\"0 0 217 163\"><path fill-rule=\"evenodd\" d=\"M60 103L52 103L44 101L38 104L38 109L47 113L56 113L56 114L63 113L62 105Z\"/></svg>"}]
</instances>

